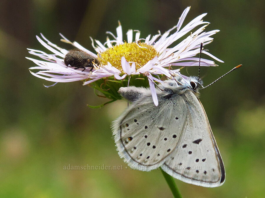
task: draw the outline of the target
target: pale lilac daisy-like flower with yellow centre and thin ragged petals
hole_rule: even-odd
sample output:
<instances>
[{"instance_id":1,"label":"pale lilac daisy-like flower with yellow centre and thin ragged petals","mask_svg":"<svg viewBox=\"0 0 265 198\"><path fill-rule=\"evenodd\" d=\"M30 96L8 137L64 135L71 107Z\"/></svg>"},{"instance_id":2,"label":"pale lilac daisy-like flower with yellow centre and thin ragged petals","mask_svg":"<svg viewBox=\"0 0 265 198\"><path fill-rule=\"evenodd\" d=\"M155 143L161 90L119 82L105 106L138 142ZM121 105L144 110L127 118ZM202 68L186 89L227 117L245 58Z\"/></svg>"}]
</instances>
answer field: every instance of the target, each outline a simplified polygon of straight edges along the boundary
<instances>
[{"instance_id":1,"label":"pale lilac daisy-like flower with yellow centre and thin ragged petals","mask_svg":"<svg viewBox=\"0 0 265 198\"><path fill-rule=\"evenodd\" d=\"M30 70L38 69L38 72L30 72L36 77L52 82L73 82L84 80L85 82L83 85L94 85L95 89L98 89L105 94L106 97L113 100L120 99L115 96L115 93L117 93L117 90L120 87L126 86L125 82L127 85L129 85L129 82L130 85L135 85L136 80L148 79L148 83L143 86L148 86L149 84L154 104L157 106L158 99L155 93L155 82L163 82L160 80L160 76L162 75L165 75L168 78L172 78L175 75L180 76L180 70L170 70L171 66L198 66L199 58L194 56L200 53L201 43L203 43L203 46L211 43L213 41L211 36L219 31L213 30L203 32L209 24L209 22L201 20L206 13L197 16L181 29L189 10L190 7L187 7L180 16L178 24L164 34L161 34L160 31L158 31L158 34L153 35L152 37L151 35L148 35L146 38L140 38L140 31L128 30L126 33L127 42L123 40L122 26L119 22L119 26L116 28L117 36L111 32L107 32L112 39L107 37L104 44L91 38L92 46L97 52L97 55L85 49L79 43L69 41L60 34L63 38L61 39L63 42L72 44L74 47L83 50L99 60L100 63L98 65L95 65L94 63L94 68L91 72L89 69L77 70L76 68L74 69L73 67L65 65L64 57L68 51L51 43L41 34L42 39L36 36L38 41L53 54L47 54L40 50L28 49L30 54L43 59L37 60L27 57L38 65L29 68ZM196 31L190 33L191 30L198 26L200 27ZM171 33L172 31L175 32ZM190 35L172 48L168 48L187 33L190 33ZM206 50L202 50L202 53L219 62L223 62L208 53ZM212 60L203 58L201 58L200 65L218 66ZM108 81L107 84L106 81L104 81L105 79ZM117 84L117 82L119 82L119 86L114 86L113 83Z\"/></svg>"}]
</instances>

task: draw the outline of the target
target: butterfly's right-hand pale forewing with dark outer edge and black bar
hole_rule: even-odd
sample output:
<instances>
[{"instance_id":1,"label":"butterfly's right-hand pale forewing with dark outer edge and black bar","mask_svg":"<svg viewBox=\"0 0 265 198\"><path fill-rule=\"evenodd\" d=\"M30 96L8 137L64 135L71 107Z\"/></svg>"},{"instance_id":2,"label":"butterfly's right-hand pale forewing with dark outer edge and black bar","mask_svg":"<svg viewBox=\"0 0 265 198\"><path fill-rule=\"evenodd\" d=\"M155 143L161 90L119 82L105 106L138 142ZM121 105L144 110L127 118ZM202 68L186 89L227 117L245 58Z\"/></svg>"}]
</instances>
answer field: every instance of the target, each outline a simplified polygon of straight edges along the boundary
<instances>
[{"instance_id":1,"label":"butterfly's right-hand pale forewing with dark outer edge and black bar","mask_svg":"<svg viewBox=\"0 0 265 198\"><path fill-rule=\"evenodd\" d=\"M192 92L185 92L182 98L187 109L185 129L162 168L183 182L221 186L225 180L223 160L203 106Z\"/></svg>"}]
</instances>

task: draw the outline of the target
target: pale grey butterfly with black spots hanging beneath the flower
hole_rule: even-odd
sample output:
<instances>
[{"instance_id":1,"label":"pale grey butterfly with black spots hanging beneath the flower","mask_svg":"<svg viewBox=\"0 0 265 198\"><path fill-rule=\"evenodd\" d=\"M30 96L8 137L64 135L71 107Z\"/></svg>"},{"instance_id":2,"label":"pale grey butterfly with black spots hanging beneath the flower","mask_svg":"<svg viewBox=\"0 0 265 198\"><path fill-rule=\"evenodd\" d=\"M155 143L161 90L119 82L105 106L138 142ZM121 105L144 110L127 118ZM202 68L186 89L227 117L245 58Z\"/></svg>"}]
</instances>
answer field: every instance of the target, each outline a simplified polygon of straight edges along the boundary
<instances>
[{"instance_id":1,"label":"pale grey butterfly with black spots hanging beneath the flower","mask_svg":"<svg viewBox=\"0 0 265 198\"><path fill-rule=\"evenodd\" d=\"M121 87L130 101L112 124L121 158L132 169L161 167L183 182L217 187L225 168L205 110L198 99L203 82L198 77L174 77L156 88L158 106L150 89Z\"/></svg>"}]
</instances>

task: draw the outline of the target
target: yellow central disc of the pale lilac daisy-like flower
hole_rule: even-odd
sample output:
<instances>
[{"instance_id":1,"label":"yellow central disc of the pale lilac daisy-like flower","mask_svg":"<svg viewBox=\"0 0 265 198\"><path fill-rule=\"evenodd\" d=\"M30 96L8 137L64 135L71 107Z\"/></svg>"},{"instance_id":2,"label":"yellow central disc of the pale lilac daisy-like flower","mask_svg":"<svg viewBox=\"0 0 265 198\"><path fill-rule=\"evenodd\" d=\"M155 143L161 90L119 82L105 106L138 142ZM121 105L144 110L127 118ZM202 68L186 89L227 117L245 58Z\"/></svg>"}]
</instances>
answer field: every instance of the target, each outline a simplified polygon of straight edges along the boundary
<instances>
[{"instance_id":1,"label":"yellow central disc of the pale lilac daisy-like flower","mask_svg":"<svg viewBox=\"0 0 265 198\"><path fill-rule=\"evenodd\" d=\"M106 65L107 62L116 67L121 72L121 57L124 56L127 62L135 62L136 70L143 67L148 61L152 60L158 52L152 45L146 43L124 43L108 48L105 52L98 55L101 64Z\"/></svg>"}]
</instances>

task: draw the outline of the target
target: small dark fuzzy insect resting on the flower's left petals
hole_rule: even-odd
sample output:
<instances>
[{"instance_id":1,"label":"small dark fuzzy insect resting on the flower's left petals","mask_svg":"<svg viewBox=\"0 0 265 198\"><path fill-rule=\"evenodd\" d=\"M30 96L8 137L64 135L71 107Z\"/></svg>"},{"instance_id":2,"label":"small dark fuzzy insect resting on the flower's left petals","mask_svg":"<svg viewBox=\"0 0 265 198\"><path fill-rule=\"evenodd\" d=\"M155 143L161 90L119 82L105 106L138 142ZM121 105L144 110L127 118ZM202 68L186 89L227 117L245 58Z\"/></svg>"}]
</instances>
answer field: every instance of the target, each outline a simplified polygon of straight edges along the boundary
<instances>
[{"instance_id":1,"label":"small dark fuzzy insect resting on the flower's left petals","mask_svg":"<svg viewBox=\"0 0 265 198\"><path fill-rule=\"evenodd\" d=\"M90 71L94 68L93 62L98 64L99 61L94 58L93 56L85 53L80 49L73 49L69 50L69 52L64 57L64 63L66 66L76 67L75 70L78 68L82 68L82 72L85 71L86 67L91 67Z\"/></svg>"}]
</instances>

